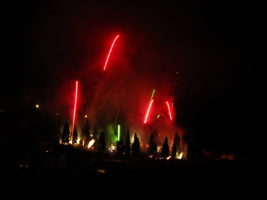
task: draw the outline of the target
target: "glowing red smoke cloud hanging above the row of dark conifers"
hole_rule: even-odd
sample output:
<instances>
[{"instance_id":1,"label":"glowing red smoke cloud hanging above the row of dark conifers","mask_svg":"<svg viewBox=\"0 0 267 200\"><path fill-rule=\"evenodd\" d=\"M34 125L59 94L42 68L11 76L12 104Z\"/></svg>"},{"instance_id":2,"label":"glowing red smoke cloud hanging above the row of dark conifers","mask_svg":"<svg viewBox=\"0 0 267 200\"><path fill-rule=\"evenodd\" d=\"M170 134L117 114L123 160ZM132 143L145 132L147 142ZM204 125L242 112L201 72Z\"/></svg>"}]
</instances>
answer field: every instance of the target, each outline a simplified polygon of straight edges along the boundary
<instances>
[{"instance_id":1,"label":"glowing red smoke cloud hanging above the row of dark conifers","mask_svg":"<svg viewBox=\"0 0 267 200\"><path fill-rule=\"evenodd\" d=\"M133 39L135 40L132 41ZM117 124L120 124L123 139L129 129L131 138L136 132L141 144L146 145L153 132L157 145L162 145L167 136L171 147L174 134L177 132L180 137L183 134L183 130L176 125L175 105L172 120L166 106L166 100L173 102L177 98L173 95L176 87L173 75L176 75L176 71L164 65L160 52L151 51L153 45L147 47L146 40L121 34L120 40L116 41L116 48L112 49L112 56L109 57L109 67L103 73L103 61L106 59L107 49L110 48L110 42L106 39L103 42L104 44L98 45L103 48L97 47L98 51L81 61L83 67L72 73L79 80L75 117L78 135L87 114L91 132L95 126L98 127L98 133L101 130L110 132L110 129L115 132ZM64 81L58 97L64 105L60 109L69 110L66 120L70 121L75 90L73 80ZM71 87L69 81L72 81ZM149 111L149 120L144 124L147 103L150 102L153 89L153 105Z\"/></svg>"}]
</instances>

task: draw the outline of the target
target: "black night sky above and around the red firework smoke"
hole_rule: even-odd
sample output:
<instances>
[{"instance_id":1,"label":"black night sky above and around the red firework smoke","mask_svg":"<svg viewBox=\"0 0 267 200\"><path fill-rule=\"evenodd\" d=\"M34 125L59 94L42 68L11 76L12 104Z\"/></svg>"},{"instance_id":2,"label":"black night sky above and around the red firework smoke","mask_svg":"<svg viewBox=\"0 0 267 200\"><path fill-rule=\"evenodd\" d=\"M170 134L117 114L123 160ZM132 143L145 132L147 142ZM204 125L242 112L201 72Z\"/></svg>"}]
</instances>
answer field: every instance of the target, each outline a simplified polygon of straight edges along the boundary
<instances>
[{"instance_id":1,"label":"black night sky above and around the red firework smoke","mask_svg":"<svg viewBox=\"0 0 267 200\"><path fill-rule=\"evenodd\" d=\"M114 62L130 63L125 68L140 76L169 79L178 125L194 127L206 148L243 151L255 145L259 6L236 1L8 5L12 84L4 92L33 88L51 103L64 81L83 80L84 73L103 68L110 42L120 34L113 55L122 59Z\"/></svg>"}]
</instances>

